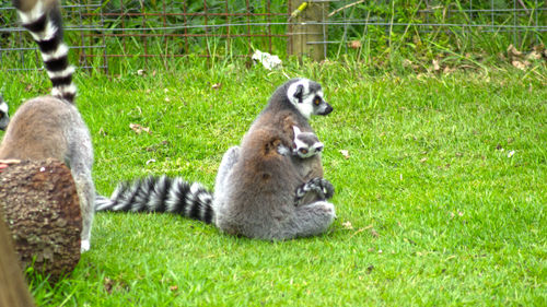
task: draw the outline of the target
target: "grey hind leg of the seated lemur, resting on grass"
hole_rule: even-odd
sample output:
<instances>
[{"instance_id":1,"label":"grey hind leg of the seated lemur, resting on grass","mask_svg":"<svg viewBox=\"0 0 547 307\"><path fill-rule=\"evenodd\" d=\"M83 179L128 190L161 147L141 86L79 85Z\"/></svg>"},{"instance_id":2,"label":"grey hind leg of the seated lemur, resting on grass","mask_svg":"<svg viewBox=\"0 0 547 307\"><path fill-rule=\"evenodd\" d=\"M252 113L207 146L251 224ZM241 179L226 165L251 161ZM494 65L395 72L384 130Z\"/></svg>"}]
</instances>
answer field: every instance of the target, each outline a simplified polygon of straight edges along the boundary
<instances>
[{"instance_id":1,"label":"grey hind leg of the seated lemur, resting on grass","mask_svg":"<svg viewBox=\"0 0 547 307\"><path fill-rule=\"evenodd\" d=\"M327 231L335 219L335 206L327 201L296 206L292 216L287 219L280 227L279 239L321 235Z\"/></svg>"}]
</instances>

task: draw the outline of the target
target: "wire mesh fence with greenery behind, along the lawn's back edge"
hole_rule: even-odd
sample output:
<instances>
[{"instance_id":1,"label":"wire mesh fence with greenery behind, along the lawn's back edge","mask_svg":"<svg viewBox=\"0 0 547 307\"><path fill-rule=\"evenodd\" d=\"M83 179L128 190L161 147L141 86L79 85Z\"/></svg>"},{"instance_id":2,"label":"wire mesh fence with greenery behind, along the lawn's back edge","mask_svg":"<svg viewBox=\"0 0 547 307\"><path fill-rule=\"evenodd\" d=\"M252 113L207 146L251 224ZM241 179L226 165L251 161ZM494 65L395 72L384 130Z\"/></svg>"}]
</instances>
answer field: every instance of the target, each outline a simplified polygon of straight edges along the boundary
<instances>
[{"instance_id":1,"label":"wire mesh fence with greenery behind, along the lawn's back edge","mask_svg":"<svg viewBox=\"0 0 547 307\"><path fill-rule=\"evenodd\" d=\"M473 45L502 36L532 46L547 32L538 0L74 0L62 8L74 62L105 71L136 59L168 66L178 57L249 57L256 49L327 58L416 37ZM40 68L9 0L0 0L0 24L1 70Z\"/></svg>"}]
</instances>

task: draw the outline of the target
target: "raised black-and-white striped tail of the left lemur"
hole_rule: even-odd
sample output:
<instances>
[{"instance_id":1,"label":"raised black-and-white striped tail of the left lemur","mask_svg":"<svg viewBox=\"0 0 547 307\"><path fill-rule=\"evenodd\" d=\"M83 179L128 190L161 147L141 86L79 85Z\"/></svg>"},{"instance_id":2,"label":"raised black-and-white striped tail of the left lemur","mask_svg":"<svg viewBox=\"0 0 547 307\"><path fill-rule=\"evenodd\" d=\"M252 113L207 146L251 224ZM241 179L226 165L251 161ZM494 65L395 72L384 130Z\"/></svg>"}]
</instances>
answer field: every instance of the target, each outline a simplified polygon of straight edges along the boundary
<instances>
[{"instance_id":1,"label":"raised black-and-white striped tail of the left lemur","mask_svg":"<svg viewBox=\"0 0 547 307\"><path fill-rule=\"evenodd\" d=\"M74 102L74 68L68 62L69 48L63 43L62 19L58 0L13 0L23 27L33 36L53 83L51 95Z\"/></svg>"}]
</instances>

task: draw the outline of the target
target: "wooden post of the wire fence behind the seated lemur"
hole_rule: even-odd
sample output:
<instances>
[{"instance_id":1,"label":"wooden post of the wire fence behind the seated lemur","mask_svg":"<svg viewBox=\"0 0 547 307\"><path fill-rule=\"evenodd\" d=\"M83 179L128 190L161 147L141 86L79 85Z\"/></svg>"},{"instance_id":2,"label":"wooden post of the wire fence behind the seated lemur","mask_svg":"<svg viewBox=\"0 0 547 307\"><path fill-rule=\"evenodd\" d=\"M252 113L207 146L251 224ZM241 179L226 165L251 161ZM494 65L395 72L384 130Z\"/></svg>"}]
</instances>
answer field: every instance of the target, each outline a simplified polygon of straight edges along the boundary
<instances>
[{"instance_id":1,"label":"wooden post of the wire fence behind the seated lemur","mask_svg":"<svg viewBox=\"0 0 547 307\"><path fill-rule=\"evenodd\" d=\"M323 24L326 19L327 1L304 1L289 0L289 13L293 13L303 2L305 9L298 15L289 17L287 54L307 56L313 60L321 61L326 57L326 26Z\"/></svg>"}]
</instances>

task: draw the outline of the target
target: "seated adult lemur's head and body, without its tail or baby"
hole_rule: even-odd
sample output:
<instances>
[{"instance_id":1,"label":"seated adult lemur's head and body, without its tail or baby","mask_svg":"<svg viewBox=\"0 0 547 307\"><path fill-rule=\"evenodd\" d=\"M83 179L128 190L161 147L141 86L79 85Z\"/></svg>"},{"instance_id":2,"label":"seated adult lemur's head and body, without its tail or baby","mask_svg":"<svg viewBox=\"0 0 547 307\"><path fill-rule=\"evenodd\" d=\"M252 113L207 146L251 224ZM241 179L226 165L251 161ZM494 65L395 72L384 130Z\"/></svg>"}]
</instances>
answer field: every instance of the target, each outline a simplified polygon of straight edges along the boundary
<instances>
[{"instance_id":1,"label":"seated adult lemur's head and body, without its tail or baby","mask_svg":"<svg viewBox=\"0 0 547 307\"><path fill-rule=\"evenodd\" d=\"M213 197L220 229L260 239L313 236L327 229L336 215L325 199L334 188L321 178L321 156L302 160L282 155L278 147L292 146L293 126L313 132L310 116L331 110L314 81L293 79L276 90L241 146L231 147L222 158ZM306 193L313 198L301 201Z\"/></svg>"}]
</instances>

